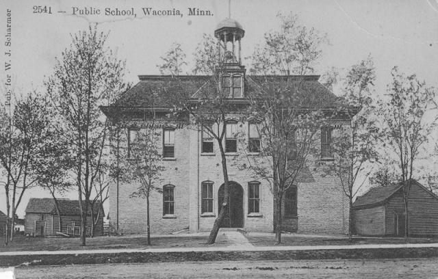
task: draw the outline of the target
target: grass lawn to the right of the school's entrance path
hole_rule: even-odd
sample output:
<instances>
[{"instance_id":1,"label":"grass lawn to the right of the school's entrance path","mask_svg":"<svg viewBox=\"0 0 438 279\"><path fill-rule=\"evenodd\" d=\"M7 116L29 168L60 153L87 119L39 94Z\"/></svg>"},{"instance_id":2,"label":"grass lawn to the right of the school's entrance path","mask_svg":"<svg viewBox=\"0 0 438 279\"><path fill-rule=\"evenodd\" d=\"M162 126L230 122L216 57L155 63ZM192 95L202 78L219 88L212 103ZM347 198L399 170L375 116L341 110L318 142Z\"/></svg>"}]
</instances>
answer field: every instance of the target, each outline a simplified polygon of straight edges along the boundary
<instances>
[{"instance_id":1,"label":"grass lawn to the right of the school's entrance path","mask_svg":"<svg viewBox=\"0 0 438 279\"><path fill-rule=\"evenodd\" d=\"M255 246L275 245L275 235L246 233L245 237ZM364 238L355 237L352 243L348 242L348 237L302 237L302 235L281 234L281 244L279 246L316 246L316 245L361 245L361 244L403 244L404 238ZM438 243L438 238L410 238L409 243Z\"/></svg>"}]
</instances>

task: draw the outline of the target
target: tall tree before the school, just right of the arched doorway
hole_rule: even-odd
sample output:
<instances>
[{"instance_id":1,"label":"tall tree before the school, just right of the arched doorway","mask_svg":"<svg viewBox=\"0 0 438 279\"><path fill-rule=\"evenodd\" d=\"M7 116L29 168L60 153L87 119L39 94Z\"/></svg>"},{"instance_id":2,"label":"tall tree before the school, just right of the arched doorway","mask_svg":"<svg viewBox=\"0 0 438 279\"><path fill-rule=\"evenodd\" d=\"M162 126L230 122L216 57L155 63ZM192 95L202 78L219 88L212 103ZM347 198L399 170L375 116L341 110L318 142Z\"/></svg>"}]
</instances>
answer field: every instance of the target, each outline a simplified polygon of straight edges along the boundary
<instances>
[{"instance_id":1,"label":"tall tree before the school, just right of the arched doorway","mask_svg":"<svg viewBox=\"0 0 438 279\"><path fill-rule=\"evenodd\" d=\"M297 178L311 155L315 155L320 129L330 118L322 107L331 103L318 82L307 82L322 55L326 35L298 25L294 14L278 14L280 31L265 34L265 42L252 55L250 77L255 85L250 96L248 121L258 123L261 152L270 165L248 160L255 176L264 178L274 198L275 242L281 243L281 209L285 192ZM293 74L294 76L291 76ZM248 157L251 158L251 157Z\"/></svg>"}]
</instances>

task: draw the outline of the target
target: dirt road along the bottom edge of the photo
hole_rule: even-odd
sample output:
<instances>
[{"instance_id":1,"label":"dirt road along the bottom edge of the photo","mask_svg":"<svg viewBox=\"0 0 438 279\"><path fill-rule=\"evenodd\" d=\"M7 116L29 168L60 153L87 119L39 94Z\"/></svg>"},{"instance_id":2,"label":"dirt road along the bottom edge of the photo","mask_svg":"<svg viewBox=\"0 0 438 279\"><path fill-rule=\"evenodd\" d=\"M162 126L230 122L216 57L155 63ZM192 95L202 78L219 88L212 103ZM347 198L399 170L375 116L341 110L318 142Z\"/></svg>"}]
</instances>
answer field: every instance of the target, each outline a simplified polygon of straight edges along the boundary
<instances>
[{"instance_id":1,"label":"dirt road along the bottom edge of the photo","mask_svg":"<svg viewBox=\"0 0 438 279\"><path fill-rule=\"evenodd\" d=\"M16 278L438 278L438 258L21 267Z\"/></svg>"}]
</instances>

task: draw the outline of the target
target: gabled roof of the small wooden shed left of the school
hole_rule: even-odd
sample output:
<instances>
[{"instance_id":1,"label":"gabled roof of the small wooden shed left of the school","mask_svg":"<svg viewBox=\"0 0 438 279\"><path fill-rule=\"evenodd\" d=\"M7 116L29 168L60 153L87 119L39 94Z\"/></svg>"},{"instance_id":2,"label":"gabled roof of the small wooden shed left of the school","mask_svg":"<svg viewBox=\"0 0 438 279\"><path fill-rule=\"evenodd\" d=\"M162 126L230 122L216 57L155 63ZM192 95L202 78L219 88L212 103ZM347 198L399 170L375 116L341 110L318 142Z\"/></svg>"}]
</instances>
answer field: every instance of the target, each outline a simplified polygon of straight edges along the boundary
<instances>
[{"instance_id":1,"label":"gabled roof of the small wooden shed left of the school","mask_svg":"<svg viewBox=\"0 0 438 279\"><path fill-rule=\"evenodd\" d=\"M81 215L79 209L79 200L57 200L60 206L60 213L63 216ZM96 202L94 207L94 214L99 211L99 205L101 201ZM26 213L48 213L57 215L55 200L53 198L31 198L27 204ZM88 207L88 214L91 213L90 207ZM103 213L105 216L105 213Z\"/></svg>"}]
</instances>

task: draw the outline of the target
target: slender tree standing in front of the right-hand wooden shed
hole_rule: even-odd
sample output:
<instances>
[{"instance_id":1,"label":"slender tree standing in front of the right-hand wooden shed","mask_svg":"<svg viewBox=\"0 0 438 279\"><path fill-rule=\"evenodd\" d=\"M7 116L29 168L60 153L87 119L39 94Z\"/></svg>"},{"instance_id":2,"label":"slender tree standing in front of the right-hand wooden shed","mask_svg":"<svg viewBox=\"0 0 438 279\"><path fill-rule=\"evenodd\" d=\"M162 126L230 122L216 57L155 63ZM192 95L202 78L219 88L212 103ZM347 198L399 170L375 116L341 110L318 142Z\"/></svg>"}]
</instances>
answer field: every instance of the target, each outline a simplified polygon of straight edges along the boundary
<instances>
[{"instance_id":1,"label":"slender tree standing in front of the right-hand wooden shed","mask_svg":"<svg viewBox=\"0 0 438 279\"><path fill-rule=\"evenodd\" d=\"M396 154L404 203L404 237L409 237L408 202L412 178L415 177L421 148L428 142L433 122L426 117L433 108L435 90L426 87L415 75L404 75L398 67L391 71L389 101L381 101L378 114L383 116L383 146Z\"/></svg>"}]
</instances>

